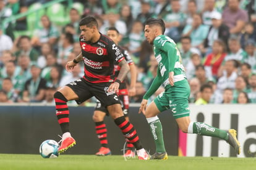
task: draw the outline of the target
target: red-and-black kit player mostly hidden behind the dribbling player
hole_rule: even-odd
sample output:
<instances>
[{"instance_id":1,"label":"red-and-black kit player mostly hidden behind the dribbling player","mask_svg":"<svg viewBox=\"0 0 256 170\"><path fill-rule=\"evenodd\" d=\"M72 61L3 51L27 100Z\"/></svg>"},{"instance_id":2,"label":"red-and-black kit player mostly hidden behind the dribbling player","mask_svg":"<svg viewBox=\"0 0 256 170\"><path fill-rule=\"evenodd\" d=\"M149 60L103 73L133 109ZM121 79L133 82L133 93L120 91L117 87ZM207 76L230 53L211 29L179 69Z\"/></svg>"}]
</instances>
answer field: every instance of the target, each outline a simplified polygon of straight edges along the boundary
<instances>
[{"instance_id":1,"label":"red-and-black kit player mostly hidden behind the dribbling player","mask_svg":"<svg viewBox=\"0 0 256 170\"><path fill-rule=\"evenodd\" d=\"M115 27L108 28L107 35L111 38L116 44L121 40L119 36L119 31ZM119 47L119 46L117 46ZM124 113L124 117L127 121L129 121L128 113L129 113L129 95L135 95L135 83L136 83L136 76L137 71L134 65L132 58L130 57L129 53L119 47L122 54L124 55L127 63L130 67L130 86L129 90L126 87L125 81L122 81L119 86L119 99L122 103L122 111ZM115 75L116 77L119 75L120 67L118 65L115 66ZM109 115L108 110L104 105L101 105L100 101L98 100L96 103L95 111L93 113L93 121L95 122L95 129L98 139L100 140L101 148L99 152L96 153L97 156L106 156L111 155L111 151L108 148L108 139L107 139L107 129L106 124L104 123L104 118L106 115ZM135 153L132 151L133 145L132 143L127 140L127 149L125 150L124 156L125 157L134 157Z\"/></svg>"}]
</instances>

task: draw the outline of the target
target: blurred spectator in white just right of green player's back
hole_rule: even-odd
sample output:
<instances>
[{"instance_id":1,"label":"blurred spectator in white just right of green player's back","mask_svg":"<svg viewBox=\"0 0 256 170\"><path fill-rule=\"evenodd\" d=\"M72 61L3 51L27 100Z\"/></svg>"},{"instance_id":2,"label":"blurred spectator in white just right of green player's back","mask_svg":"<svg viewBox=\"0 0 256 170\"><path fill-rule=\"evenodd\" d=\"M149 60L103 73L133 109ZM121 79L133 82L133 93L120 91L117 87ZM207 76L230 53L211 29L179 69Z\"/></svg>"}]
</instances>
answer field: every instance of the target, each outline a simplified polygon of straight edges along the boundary
<instances>
[{"instance_id":1,"label":"blurred spectator in white just right of green player's back","mask_svg":"<svg viewBox=\"0 0 256 170\"><path fill-rule=\"evenodd\" d=\"M201 58L198 54L191 54L189 62L185 66L187 79L191 79L195 76L196 67L200 65Z\"/></svg>"}]
</instances>

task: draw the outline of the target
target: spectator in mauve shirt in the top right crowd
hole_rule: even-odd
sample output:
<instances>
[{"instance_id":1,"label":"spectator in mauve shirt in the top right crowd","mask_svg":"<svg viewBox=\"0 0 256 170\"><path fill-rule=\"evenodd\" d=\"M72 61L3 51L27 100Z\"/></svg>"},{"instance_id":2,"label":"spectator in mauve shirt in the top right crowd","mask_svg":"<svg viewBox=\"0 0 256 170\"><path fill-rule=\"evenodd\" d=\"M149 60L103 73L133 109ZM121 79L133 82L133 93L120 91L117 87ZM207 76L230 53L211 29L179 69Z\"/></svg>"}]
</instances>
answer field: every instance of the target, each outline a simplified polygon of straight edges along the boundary
<instances>
[{"instance_id":1,"label":"spectator in mauve shirt in the top right crowd","mask_svg":"<svg viewBox=\"0 0 256 170\"><path fill-rule=\"evenodd\" d=\"M248 14L239 8L239 0L228 0L228 6L224 9L222 17L231 34L240 34L245 23L248 22Z\"/></svg>"}]
</instances>

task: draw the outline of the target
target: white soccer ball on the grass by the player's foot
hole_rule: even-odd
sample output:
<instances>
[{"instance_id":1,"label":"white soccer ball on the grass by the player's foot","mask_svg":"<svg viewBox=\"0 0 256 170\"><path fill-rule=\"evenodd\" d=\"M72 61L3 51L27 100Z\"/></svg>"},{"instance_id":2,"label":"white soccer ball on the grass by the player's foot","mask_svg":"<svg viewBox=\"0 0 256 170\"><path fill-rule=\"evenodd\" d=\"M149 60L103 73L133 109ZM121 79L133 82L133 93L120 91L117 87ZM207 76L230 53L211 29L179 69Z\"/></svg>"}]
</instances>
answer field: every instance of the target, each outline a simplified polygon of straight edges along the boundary
<instances>
[{"instance_id":1,"label":"white soccer ball on the grass by the player's foot","mask_svg":"<svg viewBox=\"0 0 256 170\"><path fill-rule=\"evenodd\" d=\"M43 158L57 158L59 156L58 153L59 144L55 140L45 140L40 145L39 152Z\"/></svg>"}]
</instances>

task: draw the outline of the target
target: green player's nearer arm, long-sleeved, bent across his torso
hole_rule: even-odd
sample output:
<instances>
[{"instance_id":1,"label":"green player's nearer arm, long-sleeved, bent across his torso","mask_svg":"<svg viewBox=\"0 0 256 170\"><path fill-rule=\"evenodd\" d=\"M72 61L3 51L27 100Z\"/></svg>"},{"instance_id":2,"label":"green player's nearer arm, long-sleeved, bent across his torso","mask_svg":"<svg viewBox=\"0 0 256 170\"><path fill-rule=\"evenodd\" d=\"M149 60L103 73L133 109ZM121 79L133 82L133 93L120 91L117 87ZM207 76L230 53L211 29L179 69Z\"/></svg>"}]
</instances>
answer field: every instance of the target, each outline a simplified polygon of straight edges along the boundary
<instances>
[{"instance_id":1,"label":"green player's nearer arm, long-sleeved, bent across his torso","mask_svg":"<svg viewBox=\"0 0 256 170\"><path fill-rule=\"evenodd\" d=\"M174 65L175 65L176 56L177 56L177 48L173 44L171 44L171 42L166 42L163 45L163 51L167 52L168 54L169 83L171 86L174 86L173 76L174 76Z\"/></svg>"}]
</instances>

